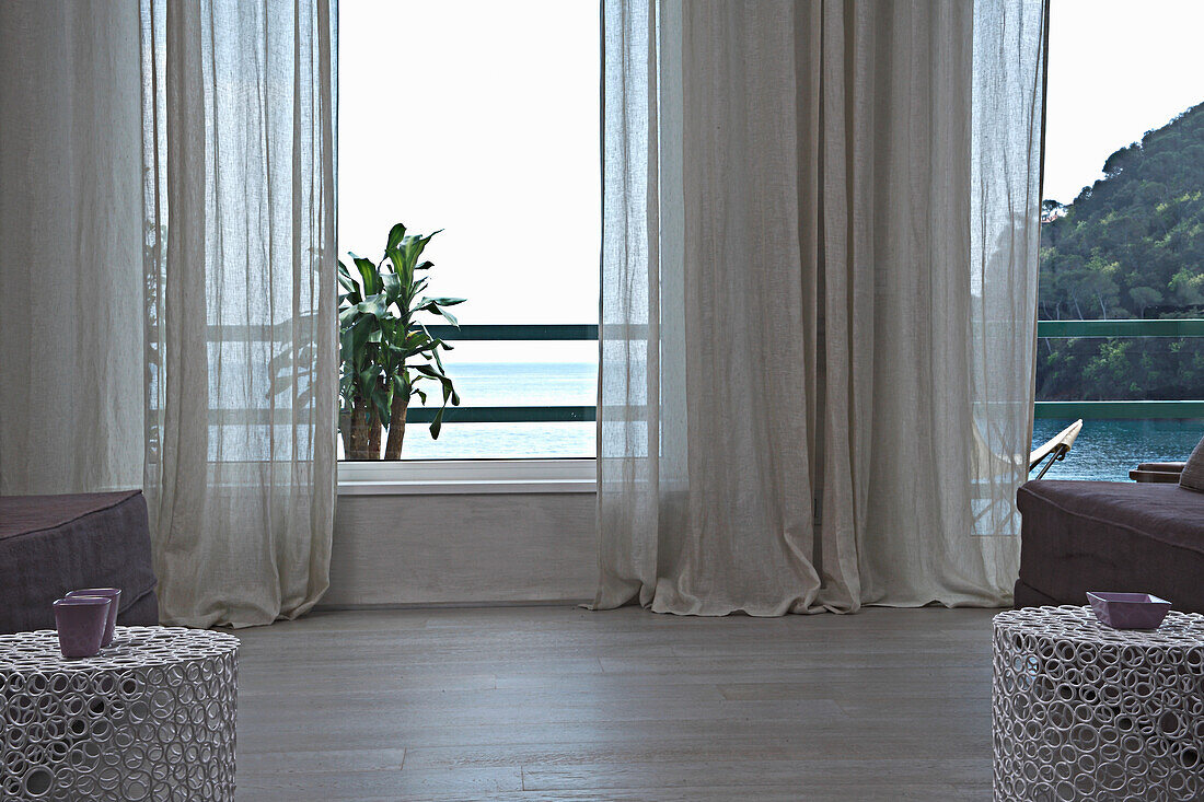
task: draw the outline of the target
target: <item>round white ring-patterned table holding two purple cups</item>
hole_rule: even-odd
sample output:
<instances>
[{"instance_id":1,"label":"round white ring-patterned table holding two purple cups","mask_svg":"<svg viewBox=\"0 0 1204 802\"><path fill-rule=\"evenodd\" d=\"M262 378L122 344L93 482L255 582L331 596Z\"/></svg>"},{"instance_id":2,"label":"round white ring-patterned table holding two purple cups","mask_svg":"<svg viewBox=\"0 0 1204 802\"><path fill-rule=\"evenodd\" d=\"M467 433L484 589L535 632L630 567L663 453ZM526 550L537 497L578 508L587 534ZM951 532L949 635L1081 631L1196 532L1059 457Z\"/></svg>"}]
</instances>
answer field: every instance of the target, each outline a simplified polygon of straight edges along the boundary
<instances>
[{"instance_id":1,"label":"round white ring-patterned table holding two purple cups","mask_svg":"<svg viewBox=\"0 0 1204 802\"><path fill-rule=\"evenodd\" d=\"M117 627L95 657L0 635L0 798L234 800L238 639Z\"/></svg>"}]
</instances>

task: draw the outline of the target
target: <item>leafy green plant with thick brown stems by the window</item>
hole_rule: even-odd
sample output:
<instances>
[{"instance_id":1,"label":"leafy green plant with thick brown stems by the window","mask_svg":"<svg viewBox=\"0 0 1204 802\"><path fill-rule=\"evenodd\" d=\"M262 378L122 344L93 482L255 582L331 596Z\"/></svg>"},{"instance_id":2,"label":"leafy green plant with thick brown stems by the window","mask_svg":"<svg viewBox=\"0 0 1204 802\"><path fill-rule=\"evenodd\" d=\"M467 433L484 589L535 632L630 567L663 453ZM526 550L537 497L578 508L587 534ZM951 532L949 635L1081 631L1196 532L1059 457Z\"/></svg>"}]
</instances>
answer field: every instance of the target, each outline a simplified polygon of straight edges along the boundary
<instances>
[{"instance_id":1,"label":"leafy green plant with thick brown stems by the window","mask_svg":"<svg viewBox=\"0 0 1204 802\"><path fill-rule=\"evenodd\" d=\"M407 235L399 223L379 263L354 253L354 271L338 263L340 431L349 460L379 460L385 430L384 459L401 459L409 400L417 395L426 403L421 382L438 383L443 393L431 437L439 436L448 402L460 403L439 358L452 346L431 336L419 319L426 313L459 325L445 307L464 302L423 295L430 279L421 273L433 265L419 258L435 234Z\"/></svg>"}]
</instances>

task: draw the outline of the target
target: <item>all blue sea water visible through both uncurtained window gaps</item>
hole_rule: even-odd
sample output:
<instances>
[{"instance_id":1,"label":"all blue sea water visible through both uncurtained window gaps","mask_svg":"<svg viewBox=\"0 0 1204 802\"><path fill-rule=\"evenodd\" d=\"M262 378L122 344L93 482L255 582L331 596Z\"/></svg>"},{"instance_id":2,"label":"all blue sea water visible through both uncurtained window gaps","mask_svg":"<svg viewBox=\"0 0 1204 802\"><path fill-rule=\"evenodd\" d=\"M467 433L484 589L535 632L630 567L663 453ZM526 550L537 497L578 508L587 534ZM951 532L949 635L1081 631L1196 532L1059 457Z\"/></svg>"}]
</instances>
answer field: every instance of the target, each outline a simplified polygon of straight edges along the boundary
<instances>
[{"instance_id":1,"label":"all blue sea water visible through both uncurtained window gaps","mask_svg":"<svg viewBox=\"0 0 1204 802\"><path fill-rule=\"evenodd\" d=\"M592 406L597 368L592 362L452 362L464 406ZM1033 448L1070 425L1038 419ZM1074 448L1047 479L1128 480L1138 462L1185 460L1204 420L1086 420ZM594 456L595 425L588 423L444 424L437 441L426 426L406 432L405 459L566 459Z\"/></svg>"}]
</instances>

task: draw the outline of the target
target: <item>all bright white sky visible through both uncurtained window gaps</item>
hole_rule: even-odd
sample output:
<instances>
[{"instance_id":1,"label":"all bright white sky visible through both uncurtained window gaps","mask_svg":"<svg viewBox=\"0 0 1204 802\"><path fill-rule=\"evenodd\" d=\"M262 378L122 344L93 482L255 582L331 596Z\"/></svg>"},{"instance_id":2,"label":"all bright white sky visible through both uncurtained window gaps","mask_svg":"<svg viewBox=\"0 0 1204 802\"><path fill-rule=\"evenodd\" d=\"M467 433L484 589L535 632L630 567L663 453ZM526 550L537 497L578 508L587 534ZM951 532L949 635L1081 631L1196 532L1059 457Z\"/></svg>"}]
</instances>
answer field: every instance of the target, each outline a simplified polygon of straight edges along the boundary
<instances>
[{"instance_id":1,"label":"all bright white sky visible through both uncurtained window gaps","mask_svg":"<svg viewBox=\"0 0 1204 802\"><path fill-rule=\"evenodd\" d=\"M1045 197L1069 202L1112 152L1204 100L1204 0L1050 13ZM342 0L340 49L344 255L378 259L399 220L442 228L432 289L468 297L462 322L596 320L597 0Z\"/></svg>"}]
</instances>

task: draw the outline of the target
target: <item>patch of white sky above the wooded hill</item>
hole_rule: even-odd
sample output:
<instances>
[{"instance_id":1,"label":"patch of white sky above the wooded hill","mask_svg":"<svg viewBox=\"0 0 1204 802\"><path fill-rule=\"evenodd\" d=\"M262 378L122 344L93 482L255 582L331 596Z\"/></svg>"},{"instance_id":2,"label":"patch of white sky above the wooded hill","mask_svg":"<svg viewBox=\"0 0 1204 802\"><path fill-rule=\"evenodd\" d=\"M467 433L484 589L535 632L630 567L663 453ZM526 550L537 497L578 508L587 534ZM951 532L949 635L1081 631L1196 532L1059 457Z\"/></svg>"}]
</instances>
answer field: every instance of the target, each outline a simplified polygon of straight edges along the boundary
<instances>
[{"instance_id":1,"label":"patch of white sky above the wooded hill","mask_svg":"<svg viewBox=\"0 0 1204 802\"><path fill-rule=\"evenodd\" d=\"M1204 0L1052 0L1045 197L1069 204L1109 155L1204 101Z\"/></svg>"}]
</instances>

